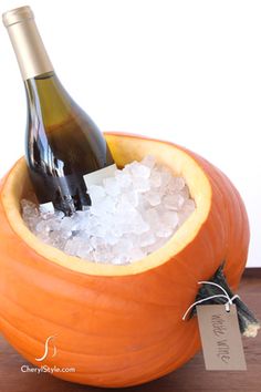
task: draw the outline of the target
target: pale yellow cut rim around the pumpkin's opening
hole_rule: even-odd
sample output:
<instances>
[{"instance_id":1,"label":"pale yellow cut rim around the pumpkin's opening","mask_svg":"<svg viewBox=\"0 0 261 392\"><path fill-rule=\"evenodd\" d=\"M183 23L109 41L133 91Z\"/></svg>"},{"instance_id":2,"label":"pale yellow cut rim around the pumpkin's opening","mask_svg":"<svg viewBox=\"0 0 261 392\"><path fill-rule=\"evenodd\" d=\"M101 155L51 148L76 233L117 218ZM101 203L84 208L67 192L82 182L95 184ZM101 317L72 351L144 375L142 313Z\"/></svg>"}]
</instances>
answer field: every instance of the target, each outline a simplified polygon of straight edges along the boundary
<instances>
[{"instance_id":1,"label":"pale yellow cut rim around the pumpkin's opening","mask_svg":"<svg viewBox=\"0 0 261 392\"><path fill-rule=\"evenodd\" d=\"M123 141L125 144L132 144L133 141L135 143L138 140L138 143L150 144L155 151L157 149L156 146L160 146L163 149L166 149L166 153L168 154L165 155L167 156L169 156L171 149L173 153L175 153L175 164L168 166L173 172L185 178L190 194L195 199L196 209L170 237L170 239L159 249L139 260L136 260L133 264L116 266L109 264L93 262L75 256L69 256L62 250L42 243L27 227L20 212L18 189L19 184L21 185L21 180L24 180L24 176L27 176L27 165L24 157L21 157L6 176L0 195L1 203L3 205L4 214L9 225L15 235L20 238L20 240L24 241L32 250L45 258L48 261L54 262L60 267L64 267L70 270L91 276L116 277L145 272L160 265L164 265L174 258L196 238L203 223L207 220L211 209L211 184L200 164L195 159L192 155L190 155L188 151L180 146L166 141L119 132L106 132L104 135L109 147L112 148L113 155L113 143L119 142L117 138ZM115 156L115 161L118 163L117 156Z\"/></svg>"}]
</instances>

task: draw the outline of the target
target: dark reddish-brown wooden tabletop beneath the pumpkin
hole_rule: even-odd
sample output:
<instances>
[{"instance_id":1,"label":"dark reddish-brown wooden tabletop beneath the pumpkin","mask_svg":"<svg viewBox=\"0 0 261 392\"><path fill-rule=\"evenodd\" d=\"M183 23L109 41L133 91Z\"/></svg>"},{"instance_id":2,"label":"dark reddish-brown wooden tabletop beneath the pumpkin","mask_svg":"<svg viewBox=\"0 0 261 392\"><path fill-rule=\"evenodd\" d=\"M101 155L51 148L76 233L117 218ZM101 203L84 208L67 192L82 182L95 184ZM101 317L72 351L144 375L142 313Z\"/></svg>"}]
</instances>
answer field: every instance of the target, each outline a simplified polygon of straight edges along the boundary
<instances>
[{"instance_id":1,"label":"dark reddish-brown wooden tabletop beneath the pumpkin","mask_svg":"<svg viewBox=\"0 0 261 392\"><path fill-rule=\"evenodd\" d=\"M254 274L244 277L239 295L261 320L261 278ZM123 390L125 392L261 392L261 332L254 339L243 338L248 371L213 372L206 371L202 354L159 380ZM65 382L41 373L22 373L21 365L27 363L0 336L0 392L100 392L104 389Z\"/></svg>"}]
</instances>

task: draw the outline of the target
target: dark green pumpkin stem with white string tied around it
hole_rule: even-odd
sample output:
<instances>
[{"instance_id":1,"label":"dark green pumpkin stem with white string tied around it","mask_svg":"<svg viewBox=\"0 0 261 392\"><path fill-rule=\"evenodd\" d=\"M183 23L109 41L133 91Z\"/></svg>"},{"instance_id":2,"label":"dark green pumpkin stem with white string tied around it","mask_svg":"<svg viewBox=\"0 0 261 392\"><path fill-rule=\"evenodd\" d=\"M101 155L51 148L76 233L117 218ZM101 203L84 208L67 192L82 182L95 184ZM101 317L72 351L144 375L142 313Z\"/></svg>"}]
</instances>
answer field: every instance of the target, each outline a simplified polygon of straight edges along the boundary
<instances>
[{"instance_id":1,"label":"dark green pumpkin stem with white string tied around it","mask_svg":"<svg viewBox=\"0 0 261 392\"><path fill-rule=\"evenodd\" d=\"M206 299L206 301L202 301L202 303L200 305L226 305L228 299L225 298L226 296L220 296L220 288L218 286L222 287L223 290L228 293L230 300L233 301L237 307L240 332L244 337L254 338L261 327L260 322L249 310L247 305L239 298L239 296L232 292L223 274L223 266L225 262L218 268L215 275L210 279L208 279L209 282L216 283L217 286L202 283L202 286L198 290L195 302L202 301L203 299ZM211 299L207 299L208 297L211 297ZM196 313L197 309L196 307L194 307L189 314L189 318L194 317Z\"/></svg>"}]
</instances>

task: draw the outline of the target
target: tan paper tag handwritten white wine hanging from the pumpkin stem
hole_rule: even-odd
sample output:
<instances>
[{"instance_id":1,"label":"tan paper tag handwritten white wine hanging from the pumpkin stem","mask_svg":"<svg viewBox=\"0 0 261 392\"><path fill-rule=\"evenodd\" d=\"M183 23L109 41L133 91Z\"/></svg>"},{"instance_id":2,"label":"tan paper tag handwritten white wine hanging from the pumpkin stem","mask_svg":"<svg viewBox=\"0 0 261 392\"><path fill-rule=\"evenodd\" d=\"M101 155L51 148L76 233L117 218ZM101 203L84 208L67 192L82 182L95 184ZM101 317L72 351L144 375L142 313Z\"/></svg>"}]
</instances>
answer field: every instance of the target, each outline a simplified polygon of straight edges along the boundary
<instances>
[{"instance_id":1,"label":"tan paper tag handwritten white wine hanging from the pumpkin stem","mask_svg":"<svg viewBox=\"0 0 261 392\"><path fill-rule=\"evenodd\" d=\"M236 305L197 306L207 370L247 370Z\"/></svg>"}]
</instances>

